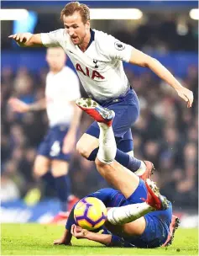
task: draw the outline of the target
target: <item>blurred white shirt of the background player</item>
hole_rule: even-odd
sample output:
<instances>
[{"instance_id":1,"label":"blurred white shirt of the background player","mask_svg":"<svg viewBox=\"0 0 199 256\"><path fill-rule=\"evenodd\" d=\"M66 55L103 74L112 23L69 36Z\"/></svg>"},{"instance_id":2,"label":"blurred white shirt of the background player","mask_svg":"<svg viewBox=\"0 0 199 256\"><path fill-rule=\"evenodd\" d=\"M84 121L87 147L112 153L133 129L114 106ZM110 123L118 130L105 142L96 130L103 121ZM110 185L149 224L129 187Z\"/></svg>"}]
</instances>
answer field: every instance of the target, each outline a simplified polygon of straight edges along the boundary
<instances>
[{"instance_id":1,"label":"blurred white shirt of the background player","mask_svg":"<svg viewBox=\"0 0 199 256\"><path fill-rule=\"evenodd\" d=\"M70 67L49 72L45 86L46 110L50 126L70 125L74 108L71 101L81 98L79 79Z\"/></svg>"}]
</instances>

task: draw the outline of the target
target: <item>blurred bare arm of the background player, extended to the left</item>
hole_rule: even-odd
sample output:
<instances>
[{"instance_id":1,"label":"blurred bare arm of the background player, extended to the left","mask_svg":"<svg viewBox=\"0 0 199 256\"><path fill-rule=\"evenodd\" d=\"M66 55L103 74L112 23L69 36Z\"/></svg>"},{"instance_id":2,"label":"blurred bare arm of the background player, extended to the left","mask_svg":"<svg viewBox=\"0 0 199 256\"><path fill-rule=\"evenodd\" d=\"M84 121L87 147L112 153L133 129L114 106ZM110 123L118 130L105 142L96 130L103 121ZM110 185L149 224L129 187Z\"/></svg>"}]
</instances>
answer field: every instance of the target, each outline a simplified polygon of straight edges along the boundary
<instances>
[{"instance_id":1,"label":"blurred bare arm of the background player, extended to the left","mask_svg":"<svg viewBox=\"0 0 199 256\"><path fill-rule=\"evenodd\" d=\"M22 100L17 98L10 98L8 104L11 106L13 111L18 113L25 113L29 111L37 111L46 108L45 99L40 99L34 104L26 104Z\"/></svg>"}]
</instances>

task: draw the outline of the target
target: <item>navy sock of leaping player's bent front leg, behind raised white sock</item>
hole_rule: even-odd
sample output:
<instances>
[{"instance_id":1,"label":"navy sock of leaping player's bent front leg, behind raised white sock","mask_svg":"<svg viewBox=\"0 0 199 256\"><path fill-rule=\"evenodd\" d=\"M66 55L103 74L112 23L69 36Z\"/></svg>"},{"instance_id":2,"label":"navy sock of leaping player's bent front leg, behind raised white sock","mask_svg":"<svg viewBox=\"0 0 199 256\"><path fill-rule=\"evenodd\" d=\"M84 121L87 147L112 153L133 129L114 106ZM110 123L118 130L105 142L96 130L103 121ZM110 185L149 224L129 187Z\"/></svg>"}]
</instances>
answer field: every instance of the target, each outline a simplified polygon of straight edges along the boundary
<instances>
[{"instance_id":1,"label":"navy sock of leaping player's bent front leg, behind raised white sock","mask_svg":"<svg viewBox=\"0 0 199 256\"><path fill-rule=\"evenodd\" d=\"M90 161L95 161L97 157L98 147L95 148L90 156L87 158ZM135 157L131 157L128 153L122 152L121 150L117 149L115 160L122 164L125 168L128 168L132 172L136 172L141 165L141 161Z\"/></svg>"}]
</instances>

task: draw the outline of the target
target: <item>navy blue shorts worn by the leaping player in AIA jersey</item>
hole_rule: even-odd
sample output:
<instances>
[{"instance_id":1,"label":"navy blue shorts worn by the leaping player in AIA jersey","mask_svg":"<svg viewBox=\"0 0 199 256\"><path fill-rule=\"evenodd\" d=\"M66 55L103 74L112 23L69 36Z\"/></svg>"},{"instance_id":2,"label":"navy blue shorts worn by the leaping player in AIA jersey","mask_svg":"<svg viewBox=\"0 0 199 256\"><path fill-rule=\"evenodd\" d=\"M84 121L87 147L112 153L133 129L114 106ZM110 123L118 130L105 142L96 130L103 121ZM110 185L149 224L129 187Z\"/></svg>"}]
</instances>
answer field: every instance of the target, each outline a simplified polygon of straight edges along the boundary
<instances>
[{"instance_id":1,"label":"navy blue shorts worn by the leaping player in AIA jersey","mask_svg":"<svg viewBox=\"0 0 199 256\"><path fill-rule=\"evenodd\" d=\"M115 118L113 120L113 131L115 137L118 139L116 141L117 146L119 144L118 141L133 141L131 126L134 125L134 122L139 117L139 99L134 90L129 89L125 96L104 102L102 106L115 112ZM95 136L96 138L99 137L99 126L97 125L96 121L92 123L92 125L87 129L86 133L91 136ZM125 152L131 151L133 146L131 147L132 148L130 150Z\"/></svg>"}]
</instances>

